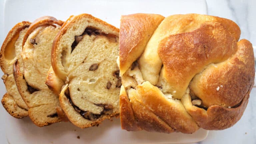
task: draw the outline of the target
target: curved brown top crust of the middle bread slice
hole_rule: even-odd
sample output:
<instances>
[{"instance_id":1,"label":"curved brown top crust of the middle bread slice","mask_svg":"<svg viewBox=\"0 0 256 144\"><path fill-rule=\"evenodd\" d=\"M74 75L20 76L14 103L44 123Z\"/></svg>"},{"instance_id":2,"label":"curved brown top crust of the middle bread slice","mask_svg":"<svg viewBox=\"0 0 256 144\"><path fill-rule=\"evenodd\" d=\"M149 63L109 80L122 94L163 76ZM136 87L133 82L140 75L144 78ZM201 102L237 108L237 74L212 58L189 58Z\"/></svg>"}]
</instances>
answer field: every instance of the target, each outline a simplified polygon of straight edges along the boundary
<instances>
[{"instance_id":1,"label":"curved brown top crust of the middle bread slice","mask_svg":"<svg viewBox=\"0 0 256 144\"><path fill-rule=\"evenodd\" d=\"M22 42L22 47L24 46L29 34L32 33L36 28L38 28L42 25L52 25L52 26L54 26L54 24L57 24L57 25L61 26L63 23L64 23L63 21L57 20L56 18L51 17L51 16L42 16L42 17L36 19L29 26L29 29L26 32L25 36L24 36L24 39L23 39L23 42Z\"/></svg>"}]
</instances>

